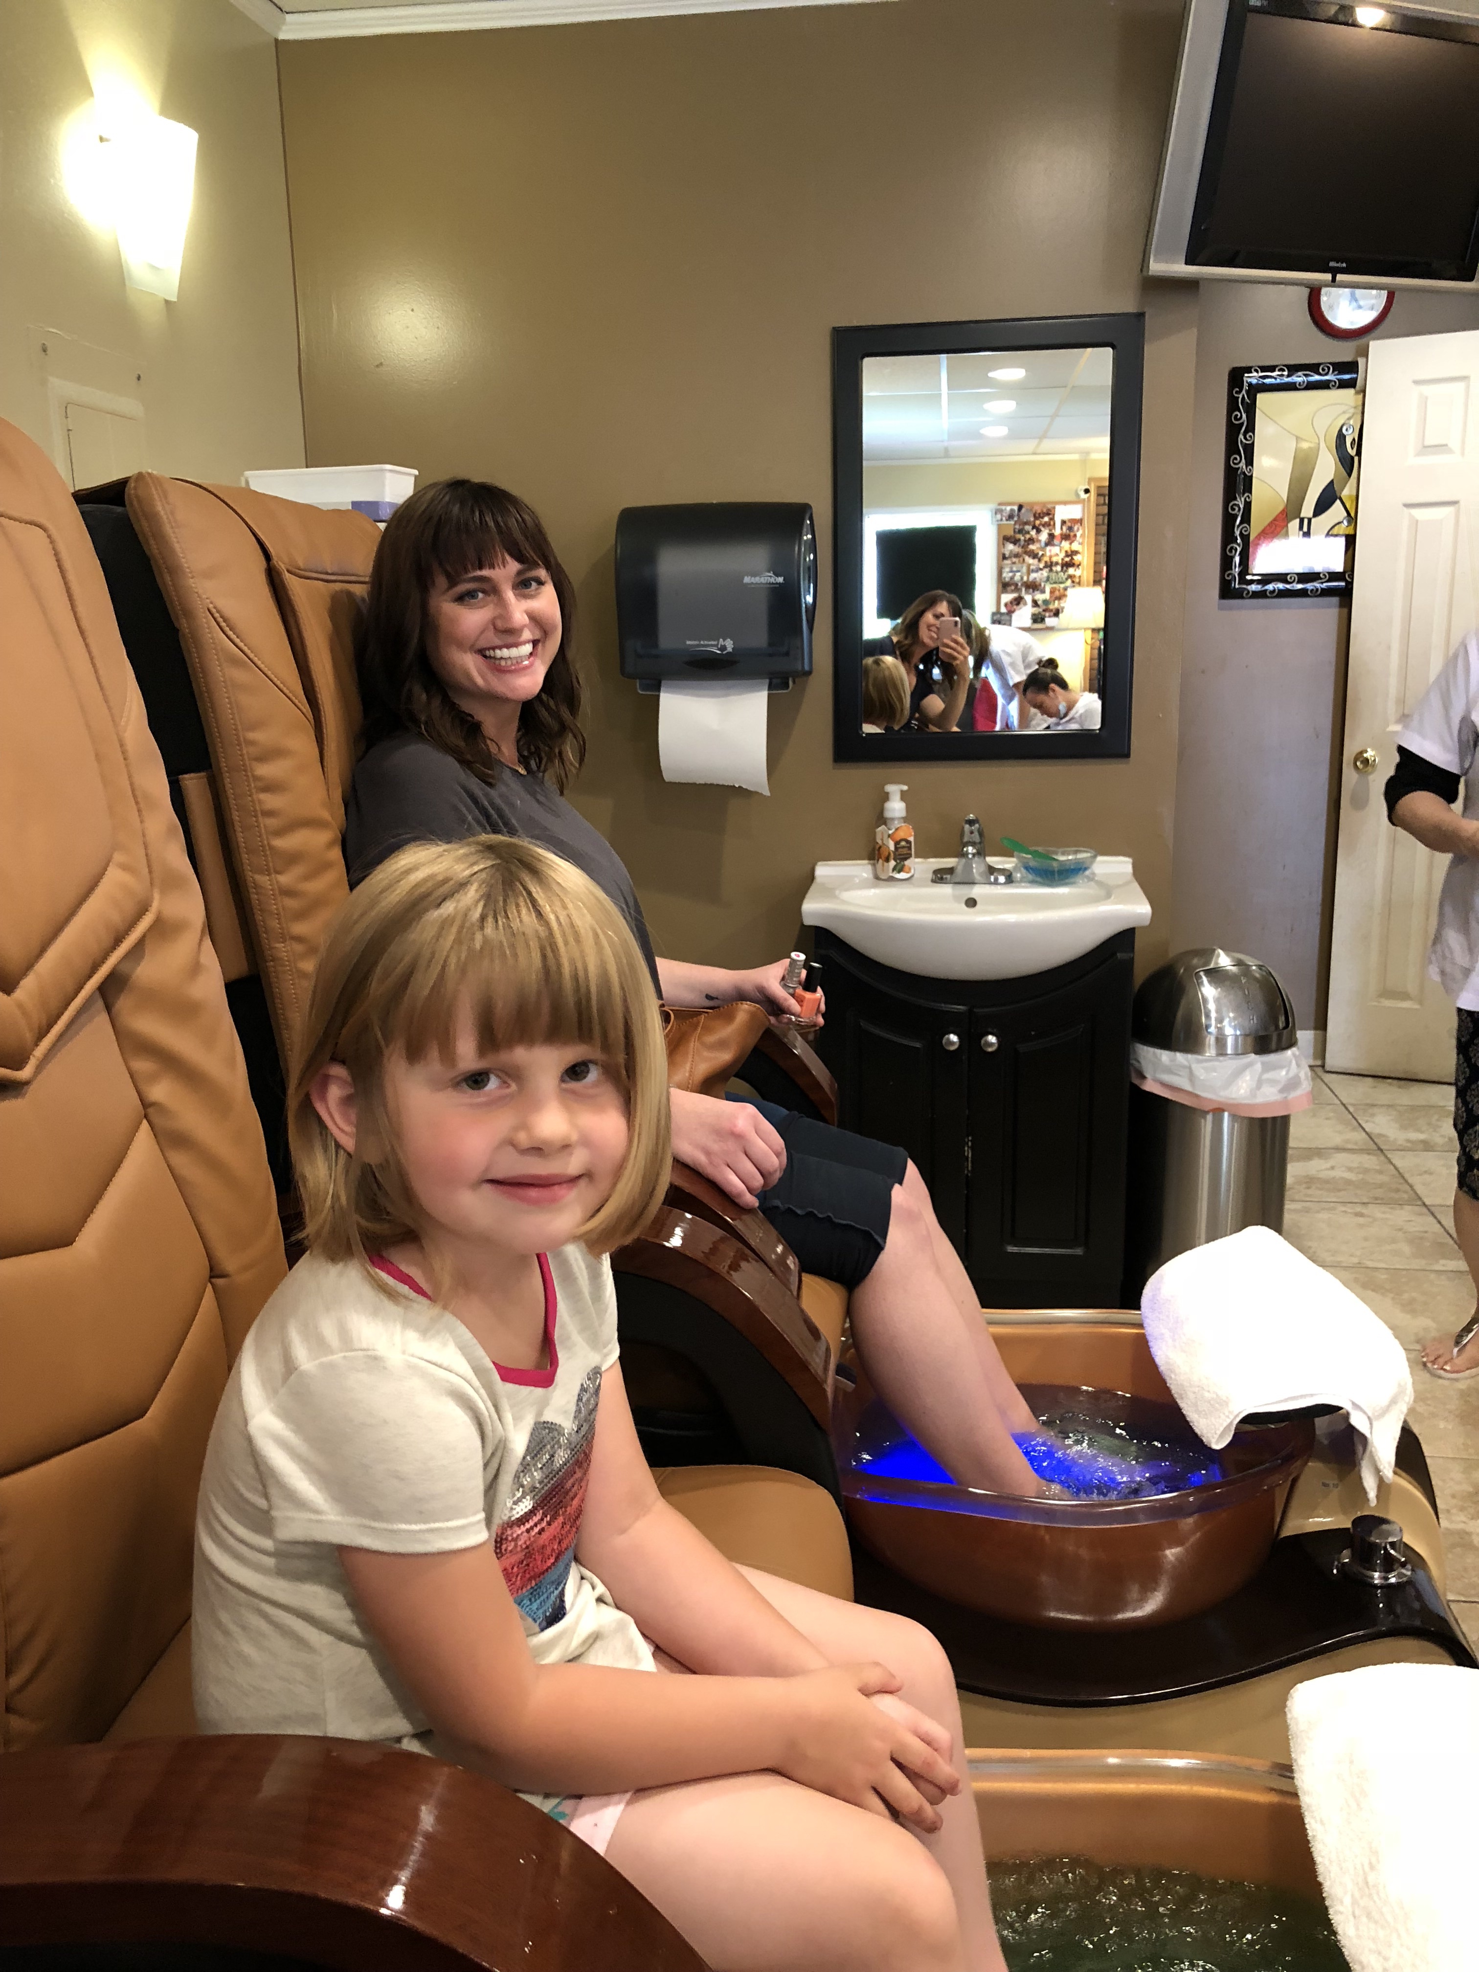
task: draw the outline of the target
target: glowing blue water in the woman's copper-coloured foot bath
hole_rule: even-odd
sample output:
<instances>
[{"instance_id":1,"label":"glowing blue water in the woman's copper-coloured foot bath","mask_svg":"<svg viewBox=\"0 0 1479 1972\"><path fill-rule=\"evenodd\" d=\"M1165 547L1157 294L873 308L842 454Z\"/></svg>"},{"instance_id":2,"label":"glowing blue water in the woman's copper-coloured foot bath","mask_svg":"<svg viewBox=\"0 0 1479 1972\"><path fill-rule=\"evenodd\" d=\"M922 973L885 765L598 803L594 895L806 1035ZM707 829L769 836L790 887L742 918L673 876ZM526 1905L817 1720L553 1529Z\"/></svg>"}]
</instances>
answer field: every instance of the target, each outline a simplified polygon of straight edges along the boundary
<instances>
[{"instance_id":1,"label":"glowing blue water in the woman's copper-coloured foot bath","mask_svg":"<svg viewBox=\"0 0 1479 1972\"><path fill-rule=\"evenodd\" d=\"M1018 1432L1016 1444L1039 1479L1075 1499L1152 1499L1223 1477L1219 1455L1195 1440L1167 1404L1132 1408L1134 1422L1096 1416L1075 1396L1069 1404L1047 1406L1041 1432ZM895 1432L887 1444L860 1451L858 1467L876 1479L954 1485L903 1426Z\"/></svg>"}]
</instances>

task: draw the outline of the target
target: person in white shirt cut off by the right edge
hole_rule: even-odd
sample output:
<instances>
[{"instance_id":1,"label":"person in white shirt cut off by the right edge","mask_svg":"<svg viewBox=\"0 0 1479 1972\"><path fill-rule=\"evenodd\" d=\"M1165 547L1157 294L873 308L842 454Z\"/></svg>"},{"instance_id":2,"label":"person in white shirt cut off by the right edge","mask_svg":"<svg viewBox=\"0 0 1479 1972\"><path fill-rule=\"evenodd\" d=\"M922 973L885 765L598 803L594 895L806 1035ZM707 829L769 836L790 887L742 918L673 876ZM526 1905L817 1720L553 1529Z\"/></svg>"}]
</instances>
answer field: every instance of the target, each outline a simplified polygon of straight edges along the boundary
<instances>
[{"instance_id":1,"label":"person in white shirt cut off by the right edge","mask_svg":"<svg viewBox=\"0 0 1479 1972\"><path fill-rule=\"evenodd\" d=\"M1475 1311L1449 1341L1422 1351L1444 1382L1479 1376L1479 633L1469 631L1396 736L1386 814L1424 848L1453 860L1438 897L1428 974L1457 1006L1453 1134L1459 1140L1453 1231L1475 1282ZM1463 812L1453 812L1463 783Z\"/></svg>"}]
</instances>

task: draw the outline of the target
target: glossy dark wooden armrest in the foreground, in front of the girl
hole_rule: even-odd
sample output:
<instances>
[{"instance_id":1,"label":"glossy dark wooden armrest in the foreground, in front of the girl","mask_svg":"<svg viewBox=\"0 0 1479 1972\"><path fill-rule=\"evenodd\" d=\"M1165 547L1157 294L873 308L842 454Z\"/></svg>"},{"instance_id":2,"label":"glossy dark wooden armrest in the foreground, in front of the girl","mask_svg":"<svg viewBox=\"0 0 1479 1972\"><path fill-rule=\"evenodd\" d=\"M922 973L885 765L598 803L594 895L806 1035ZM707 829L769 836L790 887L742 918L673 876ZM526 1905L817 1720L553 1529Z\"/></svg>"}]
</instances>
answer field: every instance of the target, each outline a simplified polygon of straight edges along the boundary
<instances>
[{"instance_id":1,"label":"glossy dark wooden armrest in the foreground, in front of the girl","mask_svg":"<svg viewBox=\"0 0 1479 1972\"><path fill-rule=\"evenodd\" d=\"M623 1875L461 1767L351 1739L0 1759L0 1944L221 1944L375 1972L704 1972Z\"/></svg>"}]
</instances>

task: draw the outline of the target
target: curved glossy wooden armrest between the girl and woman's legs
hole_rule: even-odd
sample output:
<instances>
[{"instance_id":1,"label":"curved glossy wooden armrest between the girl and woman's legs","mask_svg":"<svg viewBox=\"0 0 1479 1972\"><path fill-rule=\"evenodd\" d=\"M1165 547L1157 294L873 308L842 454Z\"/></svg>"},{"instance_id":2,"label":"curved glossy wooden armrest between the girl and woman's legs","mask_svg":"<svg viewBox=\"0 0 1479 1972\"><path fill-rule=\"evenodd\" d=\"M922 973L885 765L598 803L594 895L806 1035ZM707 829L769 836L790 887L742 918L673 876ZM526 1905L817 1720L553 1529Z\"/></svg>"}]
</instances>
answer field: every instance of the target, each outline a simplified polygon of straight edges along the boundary
<instances>
[{"instance_id":1,"label":"curved glossy wooden armrest between the girl and woman's legs","mask_svg":"<svg viewBox=\"0 0 1479 1972\"><path fill-rule=\"evenodd\" d=\"M663 1205L645 1232L611 1254L611 1266L704 1302L753 1343L816 1424L830 1428L832 1349L801 1302L741 1240L708 1219Z\"/></svg>"}]
</instances>

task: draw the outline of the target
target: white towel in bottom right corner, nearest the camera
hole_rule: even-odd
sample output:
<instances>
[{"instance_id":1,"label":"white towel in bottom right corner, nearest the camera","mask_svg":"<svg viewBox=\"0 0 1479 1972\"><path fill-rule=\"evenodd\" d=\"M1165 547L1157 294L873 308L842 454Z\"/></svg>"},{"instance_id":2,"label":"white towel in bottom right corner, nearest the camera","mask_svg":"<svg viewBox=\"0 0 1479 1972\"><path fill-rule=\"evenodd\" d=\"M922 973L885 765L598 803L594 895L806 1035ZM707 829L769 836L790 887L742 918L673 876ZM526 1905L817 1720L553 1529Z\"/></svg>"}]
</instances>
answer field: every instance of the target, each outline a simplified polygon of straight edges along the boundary
<instances>
[{"instance_id":1,"label":"white towel in bottom right corner, nearest the camera","mask_svg":"<svg viewBox=\"0 0 1479 1972\"><path fill-rule=\"evenodd\" d=\"M1286 1708L1294 1779L1351 1972L1475 1972L1479 1670L1369 1664Z\"/></svg>"}]
</instances>

